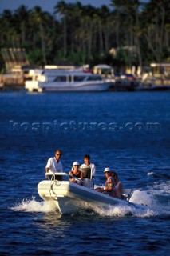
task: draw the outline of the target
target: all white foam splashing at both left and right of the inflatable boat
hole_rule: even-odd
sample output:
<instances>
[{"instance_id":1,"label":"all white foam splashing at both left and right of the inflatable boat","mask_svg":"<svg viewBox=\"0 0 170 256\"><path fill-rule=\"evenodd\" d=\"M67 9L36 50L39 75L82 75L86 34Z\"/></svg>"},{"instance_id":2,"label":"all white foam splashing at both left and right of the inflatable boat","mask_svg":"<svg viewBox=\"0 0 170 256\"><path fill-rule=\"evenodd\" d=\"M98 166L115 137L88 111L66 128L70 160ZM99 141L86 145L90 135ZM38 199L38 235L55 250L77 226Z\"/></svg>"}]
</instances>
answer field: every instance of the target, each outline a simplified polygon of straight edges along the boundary
<instances>
[{"instance_id":1,"label":"all white foam splashing at both left and right of the inflatable boat","mask_svg":"<svg viewBox=\"0 0 170 256\"><path fill-rule=\"evenodd\" d=\"M155 182L152 186L148 186L147 191L135 190L130 198L130 202L140 204L141 206L148 206L147 208L136 208L133 205L118 205L108 206L107 209L97 206L91 206L93 213L99 214L102 217L139 217L146 218L152 216L169 216L170 215L170 182ZM24 212L55 212L55 207L49 202L38 202L36 198L25 198L22 202L17 203L16 206L11 207L14 211ZM89 206L87 204L87 210ZM85 211L78 212L78 214L85 214Z\"/></svg>"}]
</instances>

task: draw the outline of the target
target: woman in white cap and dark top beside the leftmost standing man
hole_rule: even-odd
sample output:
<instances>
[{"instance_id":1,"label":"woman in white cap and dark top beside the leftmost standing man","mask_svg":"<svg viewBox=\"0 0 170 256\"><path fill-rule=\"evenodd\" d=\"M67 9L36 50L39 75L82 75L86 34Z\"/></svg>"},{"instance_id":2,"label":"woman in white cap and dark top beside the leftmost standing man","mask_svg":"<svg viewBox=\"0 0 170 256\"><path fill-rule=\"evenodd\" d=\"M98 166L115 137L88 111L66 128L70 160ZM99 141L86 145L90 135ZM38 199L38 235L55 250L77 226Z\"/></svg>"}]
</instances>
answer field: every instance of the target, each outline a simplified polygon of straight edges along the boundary
<instances>
[{"instance_id":1,"label":"woman in white cap and dark top beside the leftmost standing man","mask_svg":"<svg viewBox=\"0 0 170 256\"><path fill-rule=\"evenodd\" d=\"M82 185L82 179L84 178L83 172L80 170L80 163L79 162L73 162L72 170L69 172L69 182L74 182L79 185Z\"/></svg>"}]
</instances>

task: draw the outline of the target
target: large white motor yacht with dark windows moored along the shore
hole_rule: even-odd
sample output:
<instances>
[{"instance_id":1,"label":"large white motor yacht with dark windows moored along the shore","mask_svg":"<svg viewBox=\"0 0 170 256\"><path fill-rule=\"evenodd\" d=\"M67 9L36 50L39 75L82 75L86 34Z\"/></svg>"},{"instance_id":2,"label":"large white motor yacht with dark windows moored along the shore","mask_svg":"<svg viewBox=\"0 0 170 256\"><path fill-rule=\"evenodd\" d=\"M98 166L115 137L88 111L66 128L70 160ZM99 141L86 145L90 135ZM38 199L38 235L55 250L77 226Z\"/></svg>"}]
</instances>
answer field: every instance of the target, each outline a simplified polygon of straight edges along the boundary
<instances>
[{"instance_id":1,"label":"large white motor yacht with dark windows moored along the shore","mask_svg":"<svg viewBox=\"0 0 170 256\"><path fill-rule=\"evenodd\" d=\"M109 90L109 86L100 75L82 70L35 70L32 80L25 82L29 92L96 92Z\"/></svg>"}]
</instances>

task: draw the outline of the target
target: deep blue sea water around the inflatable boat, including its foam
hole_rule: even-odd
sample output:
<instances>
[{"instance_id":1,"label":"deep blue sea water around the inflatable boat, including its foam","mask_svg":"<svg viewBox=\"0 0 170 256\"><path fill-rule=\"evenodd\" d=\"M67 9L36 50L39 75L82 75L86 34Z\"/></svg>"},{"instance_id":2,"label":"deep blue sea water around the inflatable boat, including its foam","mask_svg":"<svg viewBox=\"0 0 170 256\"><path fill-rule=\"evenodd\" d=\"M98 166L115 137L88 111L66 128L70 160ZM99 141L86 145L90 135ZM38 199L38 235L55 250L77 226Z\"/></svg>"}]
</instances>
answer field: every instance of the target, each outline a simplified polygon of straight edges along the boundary
<instances>
[{"instance_id":1,"label":"deep blue sea water around the inflatable boat, including its foam","mask_svg":"<svg viewBox=\"0 0 170 256\"><path fill-rule=\"evenodd\" d=\"M168 255L169 92L0 94L1 255ZM65 172L90 154L135 190L125 206L61 216L39 197L45 165L61 149Z\"/></svg>"}]
</instances>

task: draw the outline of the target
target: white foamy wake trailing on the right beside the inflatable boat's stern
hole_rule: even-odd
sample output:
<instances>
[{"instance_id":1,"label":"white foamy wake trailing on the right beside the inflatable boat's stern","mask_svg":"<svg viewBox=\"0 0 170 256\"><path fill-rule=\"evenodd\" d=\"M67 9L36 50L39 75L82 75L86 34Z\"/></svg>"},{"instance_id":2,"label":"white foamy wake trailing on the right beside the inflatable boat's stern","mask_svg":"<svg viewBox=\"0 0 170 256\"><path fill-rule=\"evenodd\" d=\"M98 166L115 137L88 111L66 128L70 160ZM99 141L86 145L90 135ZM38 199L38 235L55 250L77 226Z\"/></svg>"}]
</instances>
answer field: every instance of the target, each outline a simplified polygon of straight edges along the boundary
<instances>
[{"instance_id":1,"label":"white foamy wake trailing on the right beside the inflatable boat's stern","mask_svg":"<svg viewBox=\"0 0 170 256\"><path fill-rule=\"evenodd\" d=\"M101 216L109 217L152 217L161 215L170 215L169 206L169 190L170 182L154 183L153 186L148 187L147 191L135 190L130 198L130 202L141 207L133 205L119 205L109 206L107 209L93 207L93 210ZM147 207L142 207L147 206Z\"/></svg>"}]
</instances>

